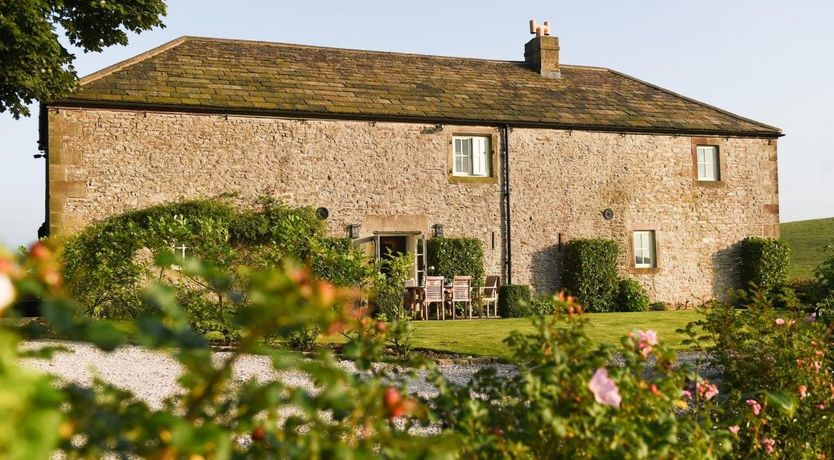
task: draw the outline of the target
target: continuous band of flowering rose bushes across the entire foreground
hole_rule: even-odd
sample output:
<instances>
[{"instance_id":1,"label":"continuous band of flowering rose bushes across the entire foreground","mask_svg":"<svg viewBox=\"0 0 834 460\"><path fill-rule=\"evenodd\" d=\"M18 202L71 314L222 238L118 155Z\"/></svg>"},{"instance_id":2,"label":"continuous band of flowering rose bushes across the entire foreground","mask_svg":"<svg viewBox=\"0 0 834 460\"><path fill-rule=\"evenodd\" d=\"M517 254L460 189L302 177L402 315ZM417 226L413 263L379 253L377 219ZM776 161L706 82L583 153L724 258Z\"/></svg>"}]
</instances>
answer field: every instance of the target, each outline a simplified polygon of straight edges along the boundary
<instances>
[{"instance_id":1,"label":"continuous band of flowering rose bushes across the entire foreground","mask_svg":"<svg viewBox=\"0 0 834 460\"><path fill-rule=\"evenodd\" d=\"M720 384L679 365L651 330L595 345L582 308L557 297L555 315L507 339L517 372L488 368L458 385L432 371L438 394L427 399L408 385L431 366L386 353L398 325L355 308L356 291L308 269L282 264L237 284L214 264L156 259L235 307L240 339L221 358L164 284L142 292L143 313L127 324L91 320L67 294L54 254L43 243L27 255L0 252L0 458L827 458L834 448L831 330L761 296L746 309L711 305L688 329L706 340L693 345L723 370ZM43 299L43 321L12 328L9 306L24 296ZM80 386L27 371L21 357L55 351L18 346L44 327L103 350L130 340L166 353L182 365L181 391L156 408L100 380ZM309 359L268 345L311 327L349 336L343 356L355 369L328 350ZM247 353L315 388L232 381Z\"/></svg>"}]
</instances>

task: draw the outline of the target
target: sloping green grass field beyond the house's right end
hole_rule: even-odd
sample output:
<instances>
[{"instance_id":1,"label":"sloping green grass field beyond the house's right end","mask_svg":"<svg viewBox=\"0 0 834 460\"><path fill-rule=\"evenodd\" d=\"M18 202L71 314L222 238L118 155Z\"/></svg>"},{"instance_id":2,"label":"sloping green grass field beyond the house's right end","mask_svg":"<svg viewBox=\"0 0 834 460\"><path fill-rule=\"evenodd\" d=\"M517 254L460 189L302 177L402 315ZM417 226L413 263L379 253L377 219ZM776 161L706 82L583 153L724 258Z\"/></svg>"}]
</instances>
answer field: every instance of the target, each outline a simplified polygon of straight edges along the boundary
<instances>
[{"instance_id":1,"label":"sloping green grass field beyond the house's right end","mask_svg":"<svg viewBox=\"0 0 834 460\"><path fill-rule=\"evenodd\" d=\"M785 222L780 229L791 245L791 278L813 277L814 267L826 258L823 246L834 244L834 217Z\"/></svg>"}]
</instances>

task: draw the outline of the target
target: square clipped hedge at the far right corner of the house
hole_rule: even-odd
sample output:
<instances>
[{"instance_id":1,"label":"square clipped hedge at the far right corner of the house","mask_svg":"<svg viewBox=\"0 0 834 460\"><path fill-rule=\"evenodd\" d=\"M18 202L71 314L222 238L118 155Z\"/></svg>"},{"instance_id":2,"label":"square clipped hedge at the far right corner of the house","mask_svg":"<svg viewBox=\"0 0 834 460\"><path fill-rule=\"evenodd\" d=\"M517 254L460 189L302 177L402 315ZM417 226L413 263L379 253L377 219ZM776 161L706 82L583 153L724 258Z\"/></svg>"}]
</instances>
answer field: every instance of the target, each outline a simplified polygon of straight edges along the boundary
<instances>
[{"instance_id":1,"label":"square clipped hedge at the far right corner of the house","mask_svg":"<svg viewBox=\"0 0 834 460\"><path fill-rule=\"evenodd\" d=\"M774 292L788 284L791 248L787 241L748 237L741 241L741 288Z\"/></svg>"}]
</instances>

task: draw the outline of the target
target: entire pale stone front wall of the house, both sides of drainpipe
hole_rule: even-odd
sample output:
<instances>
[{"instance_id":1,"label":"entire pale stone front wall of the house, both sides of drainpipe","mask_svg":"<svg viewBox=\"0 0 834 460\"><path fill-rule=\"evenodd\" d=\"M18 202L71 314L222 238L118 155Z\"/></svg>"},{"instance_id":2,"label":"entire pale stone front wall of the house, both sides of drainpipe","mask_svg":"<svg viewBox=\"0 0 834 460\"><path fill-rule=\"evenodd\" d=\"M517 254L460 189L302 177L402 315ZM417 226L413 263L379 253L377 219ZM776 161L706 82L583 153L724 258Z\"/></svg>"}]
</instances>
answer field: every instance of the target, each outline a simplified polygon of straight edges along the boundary
<instances>
[{"instance_id":1,"label":"entire pale stone front wall of the house, both sides of drainpipe","mask_svg":"<svg viewBox=\"0 0 834 460\"><path fill-rule=\"evenodd\" d=\"M455 133L407 123L50 108L50 230L74 231L129 209L236 192L329 209L334 235L431 232L484 242L486 270L503 247L497 181L449 180ZM493 150L498 151L497 136ZM513 282L559 287L560 240L615 238L623 275L672 302L721 295L735 245L778 235L776 141L708 139L722 181L694 181L691 137L514 129L510 133ZM494 160L497 158L494 157ZM499 177L498 161L493 172ZM615 217L603 219L611 208ZM631 230L657 232L660 266L628 268ZM493 247L493 233L495 246Z\"/></svg>"}]
</instances>

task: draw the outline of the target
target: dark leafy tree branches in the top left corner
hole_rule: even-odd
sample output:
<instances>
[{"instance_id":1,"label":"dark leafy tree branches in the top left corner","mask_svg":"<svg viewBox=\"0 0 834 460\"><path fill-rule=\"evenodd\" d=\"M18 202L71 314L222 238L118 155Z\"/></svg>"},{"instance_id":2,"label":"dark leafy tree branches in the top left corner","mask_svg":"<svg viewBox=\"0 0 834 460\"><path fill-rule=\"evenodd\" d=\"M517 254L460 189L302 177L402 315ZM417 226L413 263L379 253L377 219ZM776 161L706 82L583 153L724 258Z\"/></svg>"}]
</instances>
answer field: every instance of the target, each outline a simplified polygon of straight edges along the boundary
<instances>
[{"instance_id":1,"label":"dark leafy tree branches in the top left corner","mask_svg":"<svg viewBox=\"0 0 834 460\"><path fill-rule=\"evenodd\" d=\"M164 0L0 0L0 112L29 116L32 101L75 89L75 55L58 41L98 52L127 33L165 27Z\"/></svg>"}]
</instances>

